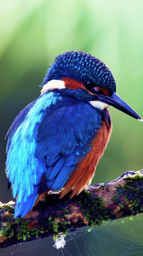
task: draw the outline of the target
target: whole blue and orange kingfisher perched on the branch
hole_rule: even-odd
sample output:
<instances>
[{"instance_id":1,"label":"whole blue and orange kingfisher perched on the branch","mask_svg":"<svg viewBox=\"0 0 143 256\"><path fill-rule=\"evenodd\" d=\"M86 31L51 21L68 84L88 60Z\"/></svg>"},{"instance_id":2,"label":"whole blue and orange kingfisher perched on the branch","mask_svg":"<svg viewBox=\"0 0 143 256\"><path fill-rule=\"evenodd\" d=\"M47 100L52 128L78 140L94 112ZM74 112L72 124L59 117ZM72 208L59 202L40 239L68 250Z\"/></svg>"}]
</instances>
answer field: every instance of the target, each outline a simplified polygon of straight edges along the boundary
<instances>
[{"instance_id":1,"label":"whole blue and orange kingfisher perched on the branch","mask_svg":"<svg viewBox=\"0 0 143 256\"><path fill-rule=\"evenodd\" d=\"M143 121L116 94L110 69L85 52L57 56L40 87L6 135L15 218L27 216L49 190L72 198L91 184L112 132L109 106Z\"/></svg>"}]
</instances>

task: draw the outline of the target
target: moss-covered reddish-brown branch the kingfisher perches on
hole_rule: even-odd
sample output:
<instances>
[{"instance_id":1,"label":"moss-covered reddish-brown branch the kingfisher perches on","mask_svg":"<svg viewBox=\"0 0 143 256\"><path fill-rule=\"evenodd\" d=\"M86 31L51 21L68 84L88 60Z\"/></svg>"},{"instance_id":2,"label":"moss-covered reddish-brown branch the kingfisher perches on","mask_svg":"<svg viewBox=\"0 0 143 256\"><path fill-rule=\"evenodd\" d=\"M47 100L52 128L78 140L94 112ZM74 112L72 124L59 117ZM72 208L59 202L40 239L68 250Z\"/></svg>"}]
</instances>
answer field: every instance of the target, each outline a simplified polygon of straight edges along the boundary
<instances>
[{"instance_id":1,"label":"moss-covered reddish-brown branch the kingfisher perches on","mask_svg":"<svg viewBox=\"0 0 143 256\"><path fill-rule=\"evenodd\" d=\"M118 179L96 184L72 199L49 192L27 218L14 218L14 202L0 204L0 248L25 241L66 235L69 231L143 212L143 171L126 171Z\"/></svg>"}]
</instances>

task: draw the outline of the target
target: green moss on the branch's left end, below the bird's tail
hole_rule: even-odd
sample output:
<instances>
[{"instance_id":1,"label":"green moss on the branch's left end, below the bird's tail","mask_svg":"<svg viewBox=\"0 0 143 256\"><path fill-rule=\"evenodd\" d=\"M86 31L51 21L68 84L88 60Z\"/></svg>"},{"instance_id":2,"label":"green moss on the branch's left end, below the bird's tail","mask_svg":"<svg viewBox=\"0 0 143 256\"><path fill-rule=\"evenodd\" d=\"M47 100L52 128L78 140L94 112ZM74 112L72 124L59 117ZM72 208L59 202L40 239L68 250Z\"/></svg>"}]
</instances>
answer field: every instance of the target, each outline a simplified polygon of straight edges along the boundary
<instances>
[{"instance_id":1,"label":"green moss on the branch's left end, below the bird's tail","mask_svg":"<svg viewBox=\"0 0 143 256\"><path fill-rule=\"evenodd\" d=\"M17 237L18 240L26 240L31 236L35 236L38 238L40 233L43 233L43 229L47 231L53 231L55 234L53 236L54 240L57 239L59 233L66 233L69 231L67 226L70 222L61 221L59 225L55 221L55 218L64 218L65 214L69 214L70 211L64 207L61 211L57 211L54 216L49 216L48 218L41 218L40 224L43 225L43 228L35 228L35 229L28 229L28 225L30 221L24 218L14 218L14 207L10 204L2 204L0 207L1 216L0 216L0 236L5 237Z\"/></svg>"}]
</instances>

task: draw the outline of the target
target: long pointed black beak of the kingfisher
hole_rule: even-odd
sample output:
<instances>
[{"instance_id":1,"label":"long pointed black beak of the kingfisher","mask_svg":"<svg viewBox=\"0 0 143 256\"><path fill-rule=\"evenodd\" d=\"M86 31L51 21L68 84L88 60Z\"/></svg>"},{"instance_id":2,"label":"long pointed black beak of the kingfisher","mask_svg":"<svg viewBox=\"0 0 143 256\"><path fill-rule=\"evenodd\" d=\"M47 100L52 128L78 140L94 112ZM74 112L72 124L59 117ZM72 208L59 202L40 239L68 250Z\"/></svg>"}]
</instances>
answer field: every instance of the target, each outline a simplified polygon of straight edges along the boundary
<instances>
[{"instance_id":1,"label":"long pointed black beak of the kingfisher","mask_svg":"<svg viewBox=\"0 0 143 256\"><path fill-rule=\"evenodd\" d=\"M130 106L127 103L125 103L125 101L122 100L115 92L111 97L101 94L95 95L99 98L99 101L104 102L110 106L113 106L114 108L121 110L122 112L132 116L133 118L143 121L142 118L133 109L131 109Z\"/></svg>"}]
</instances>

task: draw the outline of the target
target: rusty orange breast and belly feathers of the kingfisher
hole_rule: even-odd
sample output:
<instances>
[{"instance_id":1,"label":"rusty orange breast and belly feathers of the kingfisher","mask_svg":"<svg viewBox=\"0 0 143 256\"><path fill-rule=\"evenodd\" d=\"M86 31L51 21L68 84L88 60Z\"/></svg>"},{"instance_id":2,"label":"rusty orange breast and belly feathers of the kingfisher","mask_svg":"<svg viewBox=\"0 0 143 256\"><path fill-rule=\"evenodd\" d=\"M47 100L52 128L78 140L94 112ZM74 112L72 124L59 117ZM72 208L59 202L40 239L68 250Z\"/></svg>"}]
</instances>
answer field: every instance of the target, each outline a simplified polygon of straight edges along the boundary
<instances>
[{"instance_id":1,"label":"rusty orange breast and belly feathers of the kingfisher","mask_svg":"<svg viewBox=\"0 0 143 256\"><path fill-rule=\"evenodd\" d=\"M109 110L106 111L110 115ZM64 186L64 190L61 192L60 198L66 195L70 190L72 190L70 195L70 198L72 198L73 195L78 195L80 192L82 192L86 185L89 186L91 184L96 166L104 154L107 143L109 142L111 136L111 132L111 118L109 119L109 123L107 122L106 118L102 118L101 128L96 132L95 137L91 141L92 147L90 152L82 162L77 164L77 168L69 177Z\"/></svg>"}]
</instances>

